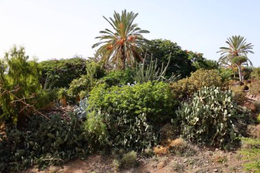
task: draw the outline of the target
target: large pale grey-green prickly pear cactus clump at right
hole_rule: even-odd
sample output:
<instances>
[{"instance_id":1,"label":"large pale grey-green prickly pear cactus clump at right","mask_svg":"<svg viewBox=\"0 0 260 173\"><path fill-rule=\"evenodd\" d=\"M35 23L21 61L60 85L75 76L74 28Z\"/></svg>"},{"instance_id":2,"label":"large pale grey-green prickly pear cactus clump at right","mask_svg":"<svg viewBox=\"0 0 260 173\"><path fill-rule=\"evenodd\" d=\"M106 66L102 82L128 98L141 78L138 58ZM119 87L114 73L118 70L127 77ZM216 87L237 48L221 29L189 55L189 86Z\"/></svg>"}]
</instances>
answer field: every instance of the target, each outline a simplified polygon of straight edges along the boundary
<instances>
[{"instance_id":1,"label":"large pale grey-green prickly pear cactus clump at right","mask_svg":"<svg viewBox=\"0 0 260 173\"><path fill-rule=\"evenodd\" d=\"M233 144L238 137L234 122L239 118L231 90L205 87L194 94L190 103L182 103L177 115L182 135L195 142L213 146Z\"/></svg>"}]
</instances>

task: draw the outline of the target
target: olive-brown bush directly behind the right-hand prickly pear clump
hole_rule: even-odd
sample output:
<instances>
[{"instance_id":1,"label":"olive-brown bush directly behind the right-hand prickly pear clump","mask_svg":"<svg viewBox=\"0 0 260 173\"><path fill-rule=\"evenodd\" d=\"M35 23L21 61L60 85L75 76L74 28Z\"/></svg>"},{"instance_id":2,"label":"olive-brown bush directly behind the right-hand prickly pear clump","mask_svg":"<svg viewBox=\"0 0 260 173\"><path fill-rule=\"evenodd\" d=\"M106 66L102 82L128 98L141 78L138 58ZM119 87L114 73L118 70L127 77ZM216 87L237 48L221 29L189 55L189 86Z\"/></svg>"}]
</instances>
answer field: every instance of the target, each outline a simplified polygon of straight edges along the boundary
<instances>
[{"instance_id":1,"label":"olive-brown bush directly behind the right-hand prickly pear clump","mask_svg":"<svg viewBox=\"0 0 260 173\"><path fill-rule=\"evenodd\" d=\"M170 84L172 92L181 100L192 96L194 92L205 86L223 86L222 78L218 70L196 70L196 72L192 72L190 77Z\"/></svg>"}]
</instances>

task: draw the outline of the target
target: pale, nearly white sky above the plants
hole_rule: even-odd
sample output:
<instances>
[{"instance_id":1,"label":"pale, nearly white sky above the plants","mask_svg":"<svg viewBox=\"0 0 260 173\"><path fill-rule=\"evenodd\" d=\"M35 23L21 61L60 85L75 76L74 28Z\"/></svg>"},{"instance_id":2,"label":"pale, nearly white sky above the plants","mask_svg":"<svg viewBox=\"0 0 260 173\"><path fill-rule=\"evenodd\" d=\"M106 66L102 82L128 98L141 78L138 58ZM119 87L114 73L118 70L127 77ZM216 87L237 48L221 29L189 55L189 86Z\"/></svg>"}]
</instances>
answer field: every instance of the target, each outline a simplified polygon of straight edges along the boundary
<instances>
[{"instance_id":1,"label":"pale, nearly white sky above the plants","mask_svg":"<svg viewBox=\"0 0 260 173\"><path fill-rule=\"evenodd\" d=\"M260 1L257 0L0 0L0 57L12 45L46 59L93 57L99 31L111 28L103 16L114 10L138 13L135 23L148 39L167 39L182 49L218 59L226 39L251 42L248 58L260 66Z\"/></svg>"}]
</instances>

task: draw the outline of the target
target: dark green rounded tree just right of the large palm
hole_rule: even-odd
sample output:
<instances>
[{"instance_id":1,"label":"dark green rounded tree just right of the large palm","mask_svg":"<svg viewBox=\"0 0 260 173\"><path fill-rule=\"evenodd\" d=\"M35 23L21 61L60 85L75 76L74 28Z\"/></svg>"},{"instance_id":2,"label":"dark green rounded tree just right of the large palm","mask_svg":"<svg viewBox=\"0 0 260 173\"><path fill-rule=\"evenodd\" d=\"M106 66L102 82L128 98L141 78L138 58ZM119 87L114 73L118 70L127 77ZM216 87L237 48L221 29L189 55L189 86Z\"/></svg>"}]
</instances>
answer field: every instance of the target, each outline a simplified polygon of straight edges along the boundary
<instances>
[{"instance_id":1,"label":"dark green rounded tree just right of the large palm","mask_svg":"<svg viewBox=\"0 0 260 173\"><path fill-rule=\"evenodd\" d=\"M171 54L171 58L170 58ZM181 49L176 42L170 40L151 40L151 44L148 45L148 51L146 55L146 62L149 64L151 55L153 59L157 58L157 64L166 66L170 58L170 64L166 72L166 78L172 75L181 75L181 77L190 76L190 73L196 68L192 66L192 59L189 59L190 55L187 51Z\"/></svg>"}]
</instances>

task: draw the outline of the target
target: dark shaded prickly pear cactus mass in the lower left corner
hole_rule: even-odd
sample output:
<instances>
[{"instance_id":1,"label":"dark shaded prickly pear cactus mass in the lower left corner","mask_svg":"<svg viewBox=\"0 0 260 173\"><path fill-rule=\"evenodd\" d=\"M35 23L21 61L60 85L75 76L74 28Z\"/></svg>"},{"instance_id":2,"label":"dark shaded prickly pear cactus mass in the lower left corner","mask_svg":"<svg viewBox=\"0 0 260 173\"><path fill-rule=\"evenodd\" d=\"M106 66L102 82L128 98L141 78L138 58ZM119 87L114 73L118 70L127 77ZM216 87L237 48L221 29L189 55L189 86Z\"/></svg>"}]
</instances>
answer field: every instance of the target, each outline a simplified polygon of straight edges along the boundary
<instances>
[{"instance_id":1,"label":"dark shaded prickly pear cactus mass in the lower left corner","mask_svg":"<svg viewBox=\"0 0 260 173\"><path fill-rule=\"evenodd\" d=\"M88 134L76 116L61 120L31 117L22 129L7 129L0 136L0 168L3 172L18 171L32 165L44 168L71 159L83 159L88 154Z\"/></svg>"}]
</instances>

